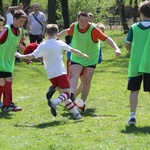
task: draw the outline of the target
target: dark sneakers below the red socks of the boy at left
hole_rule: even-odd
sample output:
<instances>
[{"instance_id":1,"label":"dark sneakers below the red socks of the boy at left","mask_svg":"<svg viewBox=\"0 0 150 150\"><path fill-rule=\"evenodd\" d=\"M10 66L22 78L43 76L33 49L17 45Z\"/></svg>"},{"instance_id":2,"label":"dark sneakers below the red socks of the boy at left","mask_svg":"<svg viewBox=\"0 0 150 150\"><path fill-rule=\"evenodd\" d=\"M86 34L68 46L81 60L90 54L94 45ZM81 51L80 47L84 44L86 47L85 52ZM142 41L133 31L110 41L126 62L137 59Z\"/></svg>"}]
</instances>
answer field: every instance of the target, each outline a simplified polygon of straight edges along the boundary
<instances>
[{"instance_id":1,"label":"dark sneakers below the red socks of the boy at left","mask_svg":"<svg viewBox=\"0 0 150 150\"><path fill-rule=\"evenodd\" d=\"M22 108L19 107L19 106L16 106L14 103L11 103L10 106L2 106L2 111L14 111L14 112L17 112L17 111L21 111Z\"/></svg>"}]
</instances>

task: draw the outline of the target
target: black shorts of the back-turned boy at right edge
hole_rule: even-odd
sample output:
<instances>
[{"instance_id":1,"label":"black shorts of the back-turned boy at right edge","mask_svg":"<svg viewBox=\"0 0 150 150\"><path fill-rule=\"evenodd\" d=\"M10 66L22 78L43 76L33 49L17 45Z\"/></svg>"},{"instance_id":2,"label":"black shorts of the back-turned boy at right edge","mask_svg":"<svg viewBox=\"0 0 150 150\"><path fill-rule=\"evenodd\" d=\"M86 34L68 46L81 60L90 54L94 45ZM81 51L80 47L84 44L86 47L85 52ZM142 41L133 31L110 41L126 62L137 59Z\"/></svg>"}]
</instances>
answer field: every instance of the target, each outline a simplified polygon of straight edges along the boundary
<instances>
[{"instance_id":1,"label":"black shorts of the back-turned boy at right edge","mask_svg":"<svg viewBox=\"0 0 150 150\"><path fill-rule=\"evenodd\" d=\"M142 81L144 91L145 92L150 91L150 74L148 73L144 73L141 76L129 78L127 89L131 91L140 90Z\"/></svg>"}]
</instances>

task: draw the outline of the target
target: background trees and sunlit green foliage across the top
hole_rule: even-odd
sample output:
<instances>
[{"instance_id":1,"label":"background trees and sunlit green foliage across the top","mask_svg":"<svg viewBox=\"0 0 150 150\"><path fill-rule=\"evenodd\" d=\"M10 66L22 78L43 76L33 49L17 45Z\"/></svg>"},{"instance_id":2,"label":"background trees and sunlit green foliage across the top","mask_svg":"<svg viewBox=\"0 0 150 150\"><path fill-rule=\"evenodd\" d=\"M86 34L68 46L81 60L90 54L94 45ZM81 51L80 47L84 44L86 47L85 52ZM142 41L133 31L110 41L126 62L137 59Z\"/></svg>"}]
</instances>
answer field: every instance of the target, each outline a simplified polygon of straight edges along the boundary
<instances>
[{"instance_id":1,"label":"background trees and sunlit green foliage across the top","mask_svg":"<svg viewBox=\"0 0 150 150\"><path fill-rule=\"evenodd\" d=\"M133 23L137 22L139 17L138 5L141 1L144 0L128 0L128 3L126 0L111 0L111 2L105 0L47 0L46 8L42 9L47 12L47 22L58 23L60 28L68 28L76 20L77 13L80 10L92 12L96 22L103 22L103 20L110 17L113 19L114 16L117 16L120 18L124 33L127 33L129 30L127 13L131 14L129 17L133 19ZM40 1L37 2L42 5ZM10 6L19 3L23 3L24 11L28 14L28 10L31 8L31 0L12 0ZM0 14L3 16L5 16L4 5L4 0L0 0ZM114 8L115 12L111 13L111 7Z\"/></svg>"}]
</instances>

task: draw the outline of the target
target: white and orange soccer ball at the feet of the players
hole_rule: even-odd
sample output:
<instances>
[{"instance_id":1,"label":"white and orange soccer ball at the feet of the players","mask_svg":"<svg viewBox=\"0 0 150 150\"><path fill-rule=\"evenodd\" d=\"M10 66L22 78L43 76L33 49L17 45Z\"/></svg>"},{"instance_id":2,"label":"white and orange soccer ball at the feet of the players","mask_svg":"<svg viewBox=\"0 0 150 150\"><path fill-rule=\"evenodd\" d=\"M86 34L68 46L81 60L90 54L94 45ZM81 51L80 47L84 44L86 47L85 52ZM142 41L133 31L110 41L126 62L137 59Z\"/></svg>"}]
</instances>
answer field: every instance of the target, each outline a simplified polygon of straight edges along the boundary
<instances>
[{"instance_id":1,"label":"white and orange soccer ball at the feet of the players","mask_svg":"<svg viewBox=\"0 0 150 150\"><path fill-rule=\"evenodd\" d=\"M79 112L82 113L86 111L86 103L82 99L76 99L74 104Z\"/></svg>"}]
</instances>

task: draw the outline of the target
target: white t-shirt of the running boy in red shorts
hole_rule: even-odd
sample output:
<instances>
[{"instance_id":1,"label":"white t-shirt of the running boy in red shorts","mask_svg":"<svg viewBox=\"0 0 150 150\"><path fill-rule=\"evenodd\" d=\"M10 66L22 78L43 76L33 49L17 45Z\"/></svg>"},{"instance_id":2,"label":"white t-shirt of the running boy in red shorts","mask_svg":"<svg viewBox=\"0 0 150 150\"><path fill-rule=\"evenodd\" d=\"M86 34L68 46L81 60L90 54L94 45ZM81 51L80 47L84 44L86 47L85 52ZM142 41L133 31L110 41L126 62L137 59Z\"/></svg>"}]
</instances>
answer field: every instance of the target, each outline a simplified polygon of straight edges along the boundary
<instances>
[{"instance_id":1,"label":"white t-shirt of the running boy in red shorts","mask_svg":"<svg viewBox=\"0 0 150 150\"><path fill-rule=\"evenodd\" d=\"M46 74L48 79L51 79L66 74L62 52L71 49L69 45L61 40L49 39L42 42L32 54L35 59L43 57Z\"/></svg>"}]
</instances>

